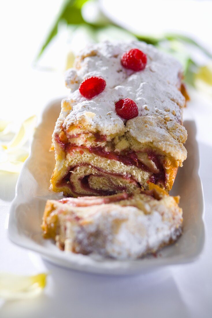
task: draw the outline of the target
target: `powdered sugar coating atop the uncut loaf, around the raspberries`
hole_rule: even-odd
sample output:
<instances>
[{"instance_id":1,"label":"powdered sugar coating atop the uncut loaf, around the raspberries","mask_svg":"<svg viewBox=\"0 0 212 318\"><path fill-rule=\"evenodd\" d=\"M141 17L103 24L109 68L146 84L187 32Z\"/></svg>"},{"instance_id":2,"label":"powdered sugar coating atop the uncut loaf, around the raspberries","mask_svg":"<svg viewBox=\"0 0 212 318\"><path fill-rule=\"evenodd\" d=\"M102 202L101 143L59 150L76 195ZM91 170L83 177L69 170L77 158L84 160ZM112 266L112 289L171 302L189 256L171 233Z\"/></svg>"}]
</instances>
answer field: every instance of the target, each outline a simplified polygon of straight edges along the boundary
<instances>
[{"instance_id":1,"label":"powdered sugar coating atop the uncut loaf, around the raspberries","mask_svg":"<svg viewBox=\"0 0 212 318\"><path fill-rule=\"evenodd\" d=\"M120 63L123 52L132 48L138 48L147 54L147 66L142 71L127 70ZM64 128L85 117L92 129L106 135L118 134L125 126L115 112L115 102L122 98L130 98L136 102L139 116L158 114L162 117L168 115L174 121L181 120L180 107L185 103L184 96L179 91L178 74L181 72L181 65L168 54L138 41L116 44L103 42L85 48L80 52L79 59L81 61L77 62L77 69L66 73L66 85L72 89L68 97L72 111L61 114L65 118ZM90 76L104 78L106 88L99 95L87 100L81 96L78 88L80 82ZM86 112L93 112L95 116L89 117Z\"/></svg>"}]
</instances>

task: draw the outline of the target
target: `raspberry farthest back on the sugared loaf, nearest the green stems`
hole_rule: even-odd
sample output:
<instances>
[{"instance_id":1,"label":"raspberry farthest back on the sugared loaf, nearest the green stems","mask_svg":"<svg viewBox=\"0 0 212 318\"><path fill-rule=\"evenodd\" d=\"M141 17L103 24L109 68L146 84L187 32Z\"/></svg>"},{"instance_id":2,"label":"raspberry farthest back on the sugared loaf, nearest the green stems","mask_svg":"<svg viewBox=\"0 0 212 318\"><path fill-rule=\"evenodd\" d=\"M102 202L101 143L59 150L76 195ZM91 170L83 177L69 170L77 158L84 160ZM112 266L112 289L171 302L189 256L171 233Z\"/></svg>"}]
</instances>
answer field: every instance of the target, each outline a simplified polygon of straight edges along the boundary
<instances>
[{"instance_id":1,"label":"raspberry farthest back on the sugared loaf, nearest the green stems","mask_svg":"<svg viewBox=\"0 0 212 318\"><path fill-rule=\"evenodd\" d=\"M132 49L122 55L121 64L133 71L141 71L147 64L147 56L138 49Z\"/></svg>"}]
</instances>

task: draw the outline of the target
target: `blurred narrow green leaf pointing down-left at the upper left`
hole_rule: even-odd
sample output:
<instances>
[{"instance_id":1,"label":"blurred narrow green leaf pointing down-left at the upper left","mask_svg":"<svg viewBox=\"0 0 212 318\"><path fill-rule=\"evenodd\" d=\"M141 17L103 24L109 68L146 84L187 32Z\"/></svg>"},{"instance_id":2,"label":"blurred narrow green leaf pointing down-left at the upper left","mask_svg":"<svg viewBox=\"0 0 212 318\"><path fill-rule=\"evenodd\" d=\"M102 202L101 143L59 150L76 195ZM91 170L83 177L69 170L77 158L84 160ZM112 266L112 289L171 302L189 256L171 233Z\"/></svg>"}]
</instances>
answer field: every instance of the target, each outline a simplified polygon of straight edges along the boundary
<instances>
[{"instance_id":1,"label":"blurred narrow green leaf pointing down-left at the upper left","mask_svg":"<svg viewBox=\"0 0 212 318\"><path fill-rule=\"evenodd\" d=\"M61 6L58 16L51 27L51 31L48 34L44 44L41 47L40 52L37 55L36 60L44 52L47 45L58 33L59 23L65 21L67 24L81 24L84 23L83 17L81 15L81 7L87 0L65 0Z\"/></svg>"}]
</instances>

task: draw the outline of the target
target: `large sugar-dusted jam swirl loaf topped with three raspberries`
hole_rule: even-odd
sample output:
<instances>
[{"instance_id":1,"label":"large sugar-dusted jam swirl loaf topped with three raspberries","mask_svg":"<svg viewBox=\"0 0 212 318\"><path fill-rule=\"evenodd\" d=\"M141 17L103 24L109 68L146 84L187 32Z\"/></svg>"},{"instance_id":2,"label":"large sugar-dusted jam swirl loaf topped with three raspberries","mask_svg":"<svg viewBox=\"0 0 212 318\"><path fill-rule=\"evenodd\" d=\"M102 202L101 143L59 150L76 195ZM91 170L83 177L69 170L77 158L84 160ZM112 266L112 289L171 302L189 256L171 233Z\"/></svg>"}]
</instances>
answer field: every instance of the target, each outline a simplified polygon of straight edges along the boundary
<instances>
[{"instance_id":1,"label":"large sugar-dusted jam swirl loaf topped with three raspberries","mask_svg":"<svg viewBox=\"0 0 212 318\"><path fill-rule=\"evenodd\" d=\"M87 47L66 73L51 188L69 196L169 191L186 159L180 63L142 42Z\"/></svg>"}]
</instances>

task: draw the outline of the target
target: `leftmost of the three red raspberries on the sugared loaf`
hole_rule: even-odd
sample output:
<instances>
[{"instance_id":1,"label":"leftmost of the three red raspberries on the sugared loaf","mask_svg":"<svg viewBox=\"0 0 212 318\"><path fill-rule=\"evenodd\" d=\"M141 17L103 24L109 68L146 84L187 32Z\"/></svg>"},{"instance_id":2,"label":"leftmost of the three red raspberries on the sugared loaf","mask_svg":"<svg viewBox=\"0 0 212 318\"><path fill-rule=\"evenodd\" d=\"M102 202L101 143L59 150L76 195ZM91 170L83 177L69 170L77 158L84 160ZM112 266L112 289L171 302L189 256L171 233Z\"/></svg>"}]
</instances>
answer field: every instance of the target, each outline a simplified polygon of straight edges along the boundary
<instances>
[{"instance_id":1,"label":"leftmost of the three red raspberries on the sugared loaf","mask_svg":"<svg viewBox=\"0 0 212 318\"><path fill-rule=\"evenodd\" d=\"M85 98L91 99L104 91L106 81L100 77L92 76L84 79L79 86L79 92Z\"/></svg>"}]
</instances>

